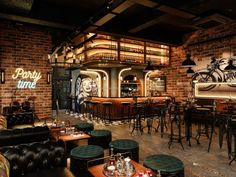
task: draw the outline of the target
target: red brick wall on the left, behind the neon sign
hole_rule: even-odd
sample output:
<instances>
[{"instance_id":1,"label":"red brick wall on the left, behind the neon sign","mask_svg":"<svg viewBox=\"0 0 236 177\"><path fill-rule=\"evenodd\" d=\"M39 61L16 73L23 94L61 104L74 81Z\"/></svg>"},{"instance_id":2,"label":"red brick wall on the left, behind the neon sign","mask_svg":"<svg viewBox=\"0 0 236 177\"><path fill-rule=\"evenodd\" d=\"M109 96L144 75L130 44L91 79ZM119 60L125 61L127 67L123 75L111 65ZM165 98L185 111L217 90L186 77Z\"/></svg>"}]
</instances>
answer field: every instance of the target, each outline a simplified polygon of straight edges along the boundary
<instances>
[{"instance_id":1,"label":"red brick wall on the left, behind the neon sign","mask_svg":"<svg viewBox=\"0 0 236 177\"><path fill-rule=\"evenodd\" d=\"M51 51L51 35L47 30L29 25L15 25L0 22L0 60L5 70L6 82L0 84L0 108L9 106L12 97L19 102L35 96L35 110L39 118L51 116L51 85L47 84L47 54ZM16 68L41 72L42 78L35 89L16 89L17 81L12 79ZM15 92L15 94L13 94Z\"/></svg>"}]
</instances>

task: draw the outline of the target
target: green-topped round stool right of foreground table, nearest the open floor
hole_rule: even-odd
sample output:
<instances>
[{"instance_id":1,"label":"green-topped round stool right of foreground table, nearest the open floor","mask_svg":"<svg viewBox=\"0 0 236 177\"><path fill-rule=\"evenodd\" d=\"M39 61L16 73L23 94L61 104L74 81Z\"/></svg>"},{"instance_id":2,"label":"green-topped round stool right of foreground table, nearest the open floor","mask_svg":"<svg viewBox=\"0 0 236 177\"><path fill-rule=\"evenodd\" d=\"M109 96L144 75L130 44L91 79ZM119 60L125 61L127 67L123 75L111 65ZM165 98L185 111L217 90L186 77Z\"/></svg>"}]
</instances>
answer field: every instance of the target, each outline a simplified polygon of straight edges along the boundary
<instances>
[{"instance_id":1,"label":"green-topped round stool right of foreground table, nearest the open floor","mask_svg":"<svg viewBox=\"0 0 236 177\"><path fill-rule=\"evenodd\" d=\"M143 165L156 172L160 170L162 177L184 177L183 162L171 155L150 155L144 158Z\"/></svg>"}]
</instances>

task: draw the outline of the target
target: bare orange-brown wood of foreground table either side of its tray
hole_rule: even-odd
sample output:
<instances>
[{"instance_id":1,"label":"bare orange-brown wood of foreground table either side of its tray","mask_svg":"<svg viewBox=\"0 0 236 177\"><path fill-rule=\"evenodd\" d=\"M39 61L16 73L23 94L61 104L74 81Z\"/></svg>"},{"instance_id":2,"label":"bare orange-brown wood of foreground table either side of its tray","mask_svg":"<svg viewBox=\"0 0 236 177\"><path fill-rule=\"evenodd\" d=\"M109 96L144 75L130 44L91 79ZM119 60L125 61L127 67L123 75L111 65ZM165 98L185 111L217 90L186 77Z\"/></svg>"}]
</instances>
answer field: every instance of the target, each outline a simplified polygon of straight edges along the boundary
<instances>
[{"instance_id":1,"label":"bare orange-brown wood of foreground table either side of its tray","mask_svg":"<svg viewBox=\"0 0 236 177\"><path fill-rule=\"evenodd\" d=\"M137 176L139 171L143 171L145 172L146 170L148 170L146 167L144 167L143 165L131 160L131 163L133 164L134 168L135 168L135 175L133 176ZM96 165L96 166L92 166L88 168L88 171L94 176L94 177L106 177L103 174L103 166L104 164L101 165Z\"/></svg>"}]
</instances>

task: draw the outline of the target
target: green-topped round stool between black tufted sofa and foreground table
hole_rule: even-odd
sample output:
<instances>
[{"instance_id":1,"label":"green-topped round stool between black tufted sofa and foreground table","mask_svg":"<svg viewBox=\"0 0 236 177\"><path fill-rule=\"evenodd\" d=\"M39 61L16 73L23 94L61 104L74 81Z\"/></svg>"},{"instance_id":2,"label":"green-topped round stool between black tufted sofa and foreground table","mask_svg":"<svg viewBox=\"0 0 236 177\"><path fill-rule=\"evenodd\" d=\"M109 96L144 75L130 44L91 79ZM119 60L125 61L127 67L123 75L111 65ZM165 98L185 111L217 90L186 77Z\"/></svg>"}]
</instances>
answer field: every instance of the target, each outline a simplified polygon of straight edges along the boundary
<instances>
[{"instance_id":1,"label":"green-topped round stool between black tufted sofa and foreground table","mask_svg":"<svg viewBox=\"0 0 236 177\"><path fill-rule=\"evenodd\" d=\"M104 157L103 148L96 145L85 145L73 148L70 151L70 170L75 176L91 177L87 162ZM103 160L89 163L89 166L103 163Z\"/></svg>"}]
</instances>

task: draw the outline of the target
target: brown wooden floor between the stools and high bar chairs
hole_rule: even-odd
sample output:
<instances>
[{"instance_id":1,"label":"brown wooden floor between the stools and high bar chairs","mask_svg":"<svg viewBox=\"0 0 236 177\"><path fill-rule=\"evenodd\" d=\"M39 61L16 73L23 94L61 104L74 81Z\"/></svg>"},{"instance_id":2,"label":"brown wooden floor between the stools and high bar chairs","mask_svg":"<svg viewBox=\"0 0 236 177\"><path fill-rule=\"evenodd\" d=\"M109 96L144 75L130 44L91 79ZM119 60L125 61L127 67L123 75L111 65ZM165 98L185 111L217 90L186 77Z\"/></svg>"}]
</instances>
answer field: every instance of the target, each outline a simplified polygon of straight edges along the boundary
<instances>
[{"instance_id":1,"label":"brown wooden floor between the stools and high bar chairs","mask_svg":"<svg viewBox=\"0 0 236 177\"><path fill-rule=\"evenodd\" d=\"M72 124L86 121L84 118L75 118L74 116L66 115L61 112L58 116L60 120L70 120ZM134 131L131 134L132 126L129 127L127 123L114 122L112 125L104 125L100 122L93 121L95 129L107 129L112 131L112 139L133 139L139 142L139 156L140 163L146 156L152 154L169 154L178 157L184 163L185 177L234 177L236 176L236 161L231 165L228 164L228 154L226 141L222 149L218 145L218 130L216 129L213 135L213 142L210 152L207 152L208 138L202 136L200 144L197 144L194 139L191 140L191 147L188 146L185 138L183 139L184 150L179 143L174 143L168 148L168 141L170 135L170 125L168 130L164 130L163 138L161 138L160 130L158 132L152 131L151 134L147 133L144 129L143 134ZM145 126L146 122L143 121L142 125ZM154 122L157 125L157 122ZM182 134L184 136L184 125L182 126ZM195 135L195 131L193 131Z\"/></svg>"}]
</instances>

